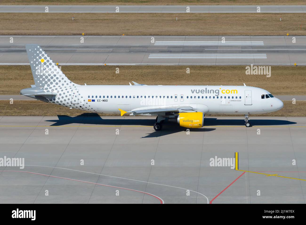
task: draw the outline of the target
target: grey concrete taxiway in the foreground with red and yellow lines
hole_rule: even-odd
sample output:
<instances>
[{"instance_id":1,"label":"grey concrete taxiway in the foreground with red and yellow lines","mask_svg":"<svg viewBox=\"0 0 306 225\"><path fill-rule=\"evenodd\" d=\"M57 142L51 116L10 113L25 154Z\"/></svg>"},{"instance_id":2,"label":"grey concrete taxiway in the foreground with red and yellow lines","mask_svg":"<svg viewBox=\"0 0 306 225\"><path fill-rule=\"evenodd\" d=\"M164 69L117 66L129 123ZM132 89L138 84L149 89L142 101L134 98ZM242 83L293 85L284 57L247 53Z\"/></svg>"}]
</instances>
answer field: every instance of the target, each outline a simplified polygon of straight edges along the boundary
<instances>
[{"instance_id":1,"label":"grey concrete taxiway in the foreground with red and yellow lines","mask_svg":"<svg viewBox=\"0 0 306 225\"><path fill-rule=\"evenodd\" d=\"M0 117L0 157L25 164L0 166L0 201L305 203L306 117L251 117L248 128L206 117L188 134L170 123L154 131L154 117L88 115ZM300 180L211 163L234 152L240 170Z\"/></svg>"}]
</instances>

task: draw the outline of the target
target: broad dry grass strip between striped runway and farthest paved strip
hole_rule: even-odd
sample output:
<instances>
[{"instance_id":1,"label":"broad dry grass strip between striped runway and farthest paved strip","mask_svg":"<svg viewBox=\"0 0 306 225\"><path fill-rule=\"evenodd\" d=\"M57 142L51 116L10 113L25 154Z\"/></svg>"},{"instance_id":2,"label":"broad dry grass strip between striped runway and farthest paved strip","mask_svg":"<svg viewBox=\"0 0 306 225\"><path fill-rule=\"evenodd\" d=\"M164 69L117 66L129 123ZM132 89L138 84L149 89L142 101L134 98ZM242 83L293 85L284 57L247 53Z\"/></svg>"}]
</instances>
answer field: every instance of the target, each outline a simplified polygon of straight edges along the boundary
<instances>
[{"instance_id":1,"label":"broad dry grass strip between striped runway and farthest paved strip","mask_svg":"<svg viewBox=\"0 0 306 225\"><path fill-rule=\"evenodd\" d=\"M0 21L1 35L306 35L304 13L0 13Z\"/></svg>"}]
</instances>

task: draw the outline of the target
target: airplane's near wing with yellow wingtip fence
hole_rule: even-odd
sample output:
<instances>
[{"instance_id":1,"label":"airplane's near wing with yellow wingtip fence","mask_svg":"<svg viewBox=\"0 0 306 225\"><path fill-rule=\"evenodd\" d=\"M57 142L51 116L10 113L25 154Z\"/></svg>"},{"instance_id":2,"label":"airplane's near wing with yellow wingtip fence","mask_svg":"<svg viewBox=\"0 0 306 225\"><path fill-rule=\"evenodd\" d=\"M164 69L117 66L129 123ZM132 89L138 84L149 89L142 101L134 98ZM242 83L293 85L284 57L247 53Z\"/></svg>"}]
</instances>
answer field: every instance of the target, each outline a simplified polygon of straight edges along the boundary
<instances>
[{"instance_id":1,"label":"airplane's near wing with yellow wingtip fence","mask_svg":"<svg viewBox=\"0 0 306 225\"><path fill-rule=\"evenodd\" d=\"M187 105L171 105L171 106L164 105L164 106L153 106L153 107L146 106L146 107L136 108L131 111L124 111L122 109L119 109L119 111L121 112L121 116L123 116L125 113L131 113L130 116L147 115L147 114L163 114L163 115L169 116L169 115L174 115L174 114L181 113L181 112L197 112L196 109L194 109L191 106L187 106ZM207 110L205 111L206 112L209 111L208 107L207 107Z\"/></svg>"}]
</instances>

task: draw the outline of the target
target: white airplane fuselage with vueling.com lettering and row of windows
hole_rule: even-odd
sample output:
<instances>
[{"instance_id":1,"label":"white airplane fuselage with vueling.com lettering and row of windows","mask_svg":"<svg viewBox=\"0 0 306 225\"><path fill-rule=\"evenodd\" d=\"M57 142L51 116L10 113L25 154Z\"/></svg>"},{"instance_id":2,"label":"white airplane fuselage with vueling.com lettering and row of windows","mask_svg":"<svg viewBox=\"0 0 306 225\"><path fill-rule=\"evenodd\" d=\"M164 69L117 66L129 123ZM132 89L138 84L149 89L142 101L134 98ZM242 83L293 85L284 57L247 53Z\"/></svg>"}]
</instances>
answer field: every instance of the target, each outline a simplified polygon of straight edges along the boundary
<instances>
[{"instance_id":1,"label":"white airplane fuselage with vueling.com lettering and row of windows","mask_svg":"<svg viewBox=\"0 0 306 225\"><path fill-rule=\"evenodd\" d=\"M259 114L283 107L278 98L265 97L270 94L267 90L248 86L77 85L73 91L75 95L71 100L78 104L69 101L67 105L58 95L52 102L108 114L118 114L118 109L130 111L172 105L191 106L199 112L204 105L209 109L206 114Z\"/></svg>"}]
</instances>

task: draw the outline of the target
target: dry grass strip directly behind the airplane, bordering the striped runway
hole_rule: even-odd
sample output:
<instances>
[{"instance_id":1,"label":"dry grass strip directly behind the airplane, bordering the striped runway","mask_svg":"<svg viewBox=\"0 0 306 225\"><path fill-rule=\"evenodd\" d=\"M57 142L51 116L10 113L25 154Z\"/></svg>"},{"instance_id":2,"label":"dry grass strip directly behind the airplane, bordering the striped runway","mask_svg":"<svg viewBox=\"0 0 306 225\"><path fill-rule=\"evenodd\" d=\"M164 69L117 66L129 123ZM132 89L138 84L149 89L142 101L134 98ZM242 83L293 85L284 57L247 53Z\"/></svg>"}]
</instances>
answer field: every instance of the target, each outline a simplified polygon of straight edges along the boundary
<instances>
[{"instance_id":1,"label":"dry grass strip directly behind the airplane, bordering the striped runway","mask_svg":"<svg viewBox=\"0 0 306 225\"><path fill-rule=\"evenodd\" d=\"M116 67L119 74L116 74ZM274 95L306 95L305 67L272 66L271 77L245 75L245 66L62 66L77 84L129 85L243 85L260 87ZM19 94L34 84L30 66L0 66L0 94ZM86 74L86 76L84 76ZM14 82L12 82L14 81Z\"/></svg>"}]
</instances>

